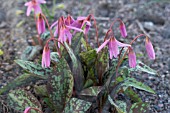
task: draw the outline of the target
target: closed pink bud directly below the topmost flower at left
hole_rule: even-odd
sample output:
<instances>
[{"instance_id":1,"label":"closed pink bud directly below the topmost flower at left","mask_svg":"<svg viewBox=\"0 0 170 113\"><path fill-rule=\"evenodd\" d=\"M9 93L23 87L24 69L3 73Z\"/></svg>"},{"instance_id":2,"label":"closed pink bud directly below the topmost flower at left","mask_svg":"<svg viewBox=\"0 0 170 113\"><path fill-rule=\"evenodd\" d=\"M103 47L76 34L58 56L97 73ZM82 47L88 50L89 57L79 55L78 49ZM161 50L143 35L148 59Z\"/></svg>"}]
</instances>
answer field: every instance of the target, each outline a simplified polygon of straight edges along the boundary
<instances>
[{"instance_id":1,"label":"closed pink bud directly below the topmost flower at left","mask_svg":"<svg viewBox=\"0 0 170 113\"><path fill-rule=\"evenodd\" d=\"M37 27L38 27L38 34L45 32L45 21L44 21L44 18L42 17L42 15L41 15L41 13L38 16Z\"/></svg>"}]
</instances>

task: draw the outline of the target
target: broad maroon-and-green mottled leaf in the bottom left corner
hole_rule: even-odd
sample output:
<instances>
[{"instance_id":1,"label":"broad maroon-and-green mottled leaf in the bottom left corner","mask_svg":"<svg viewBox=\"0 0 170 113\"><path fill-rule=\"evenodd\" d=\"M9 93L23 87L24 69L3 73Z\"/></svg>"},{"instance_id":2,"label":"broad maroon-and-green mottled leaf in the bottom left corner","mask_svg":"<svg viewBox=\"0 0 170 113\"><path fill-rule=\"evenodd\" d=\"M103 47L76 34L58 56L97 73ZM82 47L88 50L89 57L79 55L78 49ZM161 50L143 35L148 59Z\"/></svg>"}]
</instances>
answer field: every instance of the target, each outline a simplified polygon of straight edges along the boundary
<instances>
[{"instance_id":1,"label":"broad maroon-and-green mottled leaf in the bottom left corner","mask_svg":"<svg viewBox=\"0 0 170 113\"><path fill-rule=\"evenodd\" d=\"M8 106L23 112L27 107L42 109L39 101L30 93L22 89L14 90L7 95ZM32 111L31 113L36 113Z\"/></svg>"}]
</instances>

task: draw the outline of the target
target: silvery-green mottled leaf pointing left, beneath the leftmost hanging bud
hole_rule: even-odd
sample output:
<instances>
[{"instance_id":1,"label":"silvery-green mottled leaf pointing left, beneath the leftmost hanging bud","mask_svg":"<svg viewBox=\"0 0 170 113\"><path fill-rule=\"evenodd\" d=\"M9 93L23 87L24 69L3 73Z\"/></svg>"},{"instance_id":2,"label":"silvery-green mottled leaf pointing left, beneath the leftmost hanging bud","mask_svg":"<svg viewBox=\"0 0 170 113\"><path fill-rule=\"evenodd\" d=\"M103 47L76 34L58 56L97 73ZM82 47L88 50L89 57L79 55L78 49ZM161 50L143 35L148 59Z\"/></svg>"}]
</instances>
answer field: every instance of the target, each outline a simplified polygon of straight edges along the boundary
<instances>
[{"instance_id":1,"label":"silvery-green mottled leaf pointing left, beneath the leftmost hanging bud","mask_svg":"<svg viewBox=\"0 0 170 113\"><path fill-rule=\"evenodd\" d=\"M40 75L46 78L53 71L52 68L42 68L40 64L35 64L34 62L30 61L15 60L15 62L30 73Z\"/></svg>"}]
</instances>

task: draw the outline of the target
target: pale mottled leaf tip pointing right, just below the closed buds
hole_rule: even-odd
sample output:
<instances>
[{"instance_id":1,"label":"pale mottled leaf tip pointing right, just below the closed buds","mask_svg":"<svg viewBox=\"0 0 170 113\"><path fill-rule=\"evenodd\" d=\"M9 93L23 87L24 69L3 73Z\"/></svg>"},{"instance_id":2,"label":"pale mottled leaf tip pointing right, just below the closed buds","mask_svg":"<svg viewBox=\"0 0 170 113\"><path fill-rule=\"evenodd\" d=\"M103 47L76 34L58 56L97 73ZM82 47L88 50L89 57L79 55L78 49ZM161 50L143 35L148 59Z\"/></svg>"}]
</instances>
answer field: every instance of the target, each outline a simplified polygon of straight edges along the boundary
<instances>
[{"instance_id":1,"label":"pale mottled leaf tip pointing right, just below the closed buds","mask_svg":"<svg viewBox=\"0 0 170 113\"><path fill-rule=\"evenodd\" d=\"M156 70L150 68L149 66L142 63L139 60L137 61L137 66L135 68L130 68L129 70L130 71L142 71L142 72L146 72L146 73L149 73L149 74L158 75Z\"/></svg>"}]
</instances>

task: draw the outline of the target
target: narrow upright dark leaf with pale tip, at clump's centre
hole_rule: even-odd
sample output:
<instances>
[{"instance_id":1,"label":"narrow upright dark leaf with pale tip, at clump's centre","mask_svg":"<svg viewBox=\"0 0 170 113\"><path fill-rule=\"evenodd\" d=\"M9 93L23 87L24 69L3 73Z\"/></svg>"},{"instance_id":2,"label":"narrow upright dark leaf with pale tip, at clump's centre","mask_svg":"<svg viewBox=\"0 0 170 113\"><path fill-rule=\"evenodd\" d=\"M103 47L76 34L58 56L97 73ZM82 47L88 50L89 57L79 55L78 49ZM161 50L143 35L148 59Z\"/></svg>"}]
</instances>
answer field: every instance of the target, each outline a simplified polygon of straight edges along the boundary
<instances>
[{"instance_id":1,"label":"narrow upright dark leaf with pale tip, at clump's centre","mask_svg":"<svg viewBox=\"0 0 170 113\"><path fill-rule=\"evenodd\" d=\"M73 53L73 50L68 46L67 43L65 43L65 47L67 48L67 51L72 60L71 71L74 76L74 87L76 91L80 92L83 89L84 84L84 73L82 65L81 62L76 58L76 56Z\"/></svg>"}]
</instances>

